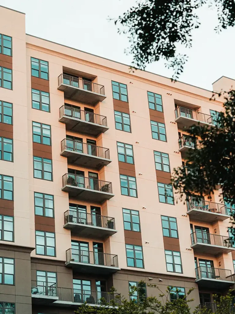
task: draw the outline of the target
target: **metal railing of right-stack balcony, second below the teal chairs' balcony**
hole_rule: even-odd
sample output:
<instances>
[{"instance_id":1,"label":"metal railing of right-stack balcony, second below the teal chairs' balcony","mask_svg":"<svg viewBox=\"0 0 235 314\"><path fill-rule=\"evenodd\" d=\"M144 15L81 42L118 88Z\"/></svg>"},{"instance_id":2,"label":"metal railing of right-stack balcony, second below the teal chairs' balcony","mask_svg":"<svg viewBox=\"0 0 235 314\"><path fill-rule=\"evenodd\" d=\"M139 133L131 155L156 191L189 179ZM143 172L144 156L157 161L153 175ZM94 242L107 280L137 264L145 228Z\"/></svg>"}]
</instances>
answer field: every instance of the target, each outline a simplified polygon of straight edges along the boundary
<instances>
[{"instance_id":1,"label":"metal railing of right-stack balcony, second below the teal chairs' balcony","mask_svg":"<svg viewBox=\"0 0 235 314\"><path fill-rule=\"evenodd\" d=\"M207 279L233 281L232 272L230 269L199 266L195 268L195 271L196 271L197 279L207 278Z\"/></svg>"}]
</instances>

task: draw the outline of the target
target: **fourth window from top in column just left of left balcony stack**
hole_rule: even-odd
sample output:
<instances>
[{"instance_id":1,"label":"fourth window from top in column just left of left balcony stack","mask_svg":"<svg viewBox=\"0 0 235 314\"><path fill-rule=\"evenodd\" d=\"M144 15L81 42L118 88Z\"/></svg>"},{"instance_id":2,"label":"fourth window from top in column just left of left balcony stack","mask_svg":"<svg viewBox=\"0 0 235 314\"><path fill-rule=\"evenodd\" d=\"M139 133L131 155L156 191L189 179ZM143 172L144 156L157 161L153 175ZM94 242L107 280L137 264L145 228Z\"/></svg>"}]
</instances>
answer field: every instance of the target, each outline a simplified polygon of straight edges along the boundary
<instances>
[{"instance_id":1,"label":"fourth window from top in column just left of left balcony stack","mask_svg":"<svg viewBox=\"0 0 235 314\"><path fill-rule=\"evenodd\" d=\"M52 160L34 156L34 178L52 181Z\"/></svg>"}]
</instances>

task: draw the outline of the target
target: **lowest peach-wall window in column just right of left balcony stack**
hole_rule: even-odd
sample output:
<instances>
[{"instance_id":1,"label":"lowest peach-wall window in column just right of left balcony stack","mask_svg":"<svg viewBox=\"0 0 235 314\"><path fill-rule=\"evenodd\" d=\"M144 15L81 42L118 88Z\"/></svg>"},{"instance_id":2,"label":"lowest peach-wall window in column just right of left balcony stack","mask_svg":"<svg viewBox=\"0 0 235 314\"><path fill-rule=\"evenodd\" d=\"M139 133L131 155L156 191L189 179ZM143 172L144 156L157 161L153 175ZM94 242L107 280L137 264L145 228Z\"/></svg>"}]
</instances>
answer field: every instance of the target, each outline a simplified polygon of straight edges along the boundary
<instances>
[{"instance_id":1,"label":"lowest peach-wall window in column just right of left balcony stack","mask_svg":"<svg viewBox=\"0 0 235 314\"><path fill-rule=\"evenodd\" d=\"M144 268L142 246L126 244L127 266Z\"/></svg>"}]
</instances>

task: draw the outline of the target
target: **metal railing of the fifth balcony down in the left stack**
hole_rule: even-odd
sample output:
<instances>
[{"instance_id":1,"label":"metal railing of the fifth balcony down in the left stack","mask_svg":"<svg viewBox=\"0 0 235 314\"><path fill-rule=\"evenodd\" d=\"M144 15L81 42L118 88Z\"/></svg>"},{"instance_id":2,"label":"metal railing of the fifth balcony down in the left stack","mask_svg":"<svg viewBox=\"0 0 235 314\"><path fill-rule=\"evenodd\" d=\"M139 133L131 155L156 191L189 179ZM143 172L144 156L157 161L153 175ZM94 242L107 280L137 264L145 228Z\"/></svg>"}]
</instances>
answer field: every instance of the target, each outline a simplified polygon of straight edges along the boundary
<instances>
[{"instance_id":1,"label":"metal railing of the fifth balcony down in the left stack","mask_svg":"<svg viewBox=\"0 0 235 314\"><path fill-rule=\"evenodd\" d=\"M64 222L74 224L90 225L94 227L115 229L115 219L112 217L82 213L76 210L67 210L64 213Z\"/></svg>"}]
</instances>

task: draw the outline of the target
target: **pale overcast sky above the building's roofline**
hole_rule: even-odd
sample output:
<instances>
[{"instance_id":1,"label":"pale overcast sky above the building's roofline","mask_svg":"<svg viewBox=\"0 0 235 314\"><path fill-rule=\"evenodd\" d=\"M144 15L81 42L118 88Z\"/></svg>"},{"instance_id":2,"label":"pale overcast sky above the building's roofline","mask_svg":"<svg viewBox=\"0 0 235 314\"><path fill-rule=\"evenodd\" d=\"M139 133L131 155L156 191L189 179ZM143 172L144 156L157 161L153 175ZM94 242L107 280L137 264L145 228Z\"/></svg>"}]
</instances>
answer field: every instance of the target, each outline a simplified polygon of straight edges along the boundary
<instances>
[{"instance_id":1,"label":"pale overcast sky above the building's roofline","mask_svg":"<svg viewBox=\"0 0 235 314\"><path fill-rule=\"evenodd\" d=\"M124 49L129 42L117 33L108 17L116 18L135 4L135 0L0 0L0 5L26 14L26 33L125 64L131 56ZM179 80L205 89L222 75L235 79L235 28L214 31L216 12L201 8L201 26L193 33L193 46ZM155 62L147 71L172 76L164 62Z\"/></svg>"}]
</instances>

